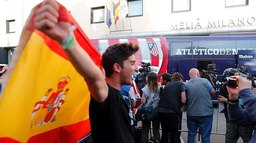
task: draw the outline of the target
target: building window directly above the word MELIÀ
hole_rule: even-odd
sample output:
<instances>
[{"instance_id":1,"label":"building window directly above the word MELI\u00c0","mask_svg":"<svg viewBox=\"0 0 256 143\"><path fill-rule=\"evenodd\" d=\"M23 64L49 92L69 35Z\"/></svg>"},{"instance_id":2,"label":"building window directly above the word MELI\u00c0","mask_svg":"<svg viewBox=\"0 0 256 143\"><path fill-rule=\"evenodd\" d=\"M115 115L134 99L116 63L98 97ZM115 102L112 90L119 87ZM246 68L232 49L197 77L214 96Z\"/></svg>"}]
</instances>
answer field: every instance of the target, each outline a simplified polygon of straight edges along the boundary
<instances>
[{"instance_id":1,"label":"building window directly above the word MELI\u00c0","mask_svg":"<svg viewBox=\"0 0 256 143\"><path fill-rule=\"evenodd\" d=\"M191 0L171 0L171 12L191 11Z\"/></svg>"}]
</instances>

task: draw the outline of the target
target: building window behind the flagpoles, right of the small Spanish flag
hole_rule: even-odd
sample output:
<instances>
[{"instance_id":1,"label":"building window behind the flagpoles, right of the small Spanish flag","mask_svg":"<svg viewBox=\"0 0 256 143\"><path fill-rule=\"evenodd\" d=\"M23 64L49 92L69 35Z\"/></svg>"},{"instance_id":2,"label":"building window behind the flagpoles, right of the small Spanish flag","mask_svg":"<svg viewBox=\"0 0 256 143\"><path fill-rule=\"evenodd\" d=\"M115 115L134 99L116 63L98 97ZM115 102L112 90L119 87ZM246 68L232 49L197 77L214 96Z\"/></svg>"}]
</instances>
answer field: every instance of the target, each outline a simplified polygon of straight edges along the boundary
<instances>
[{"instance_id":1,"label":"building window behind the flagpoles, right of the small Spanish flag","mask_svg":"<svg viewBox=\"0 0 256 143\"><path fill-rule=\"evenodd\" d=\"M143 1L142 0L128 0L129 14L126 16L137 17L143 15Z\"/></svg>"}]
</instances>

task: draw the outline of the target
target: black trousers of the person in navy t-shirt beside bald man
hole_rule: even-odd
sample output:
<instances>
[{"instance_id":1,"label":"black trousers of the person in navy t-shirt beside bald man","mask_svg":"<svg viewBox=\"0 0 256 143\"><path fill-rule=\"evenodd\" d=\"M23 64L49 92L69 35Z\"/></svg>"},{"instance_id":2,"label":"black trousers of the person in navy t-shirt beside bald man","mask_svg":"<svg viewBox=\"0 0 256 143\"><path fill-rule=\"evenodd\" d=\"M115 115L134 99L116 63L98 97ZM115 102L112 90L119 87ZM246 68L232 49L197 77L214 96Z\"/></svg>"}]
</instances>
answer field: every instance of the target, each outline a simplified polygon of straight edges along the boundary
<instances>
[{"instance_id":1,"label":"black trousers of the person in navy t-shirt beside bald man","mask_svg":"<svg viewBox=\"0 0 256 143\"><path fill-rule=\"evenodd\" d=\"M169 135L171 143L179 143L179 113L159 112L159 120L162 127L161 143L168 143Z\"/></svg>"}]
</instances>

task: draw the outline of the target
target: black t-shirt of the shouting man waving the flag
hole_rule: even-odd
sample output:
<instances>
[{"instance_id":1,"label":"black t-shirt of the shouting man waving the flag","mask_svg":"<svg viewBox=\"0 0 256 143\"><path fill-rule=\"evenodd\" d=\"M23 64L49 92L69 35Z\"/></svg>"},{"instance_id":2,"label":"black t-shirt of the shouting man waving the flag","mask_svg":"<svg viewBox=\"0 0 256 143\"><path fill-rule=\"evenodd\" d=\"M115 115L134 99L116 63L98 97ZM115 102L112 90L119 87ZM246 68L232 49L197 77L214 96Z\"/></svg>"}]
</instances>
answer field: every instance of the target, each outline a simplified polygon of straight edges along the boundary
<instances>
[{"instance_id":1,"label":"black t-shirt of the shouting man waving the flag","mask_svg":"<svg viewBox=\"0 0 256 143\"><path fill-rule=\"evenodd\" d=\"M99 104L92 97L89 117L94 143L134 143L129 108L120 91L108 85L105 102Z\"/></svg>"}]
</instances>

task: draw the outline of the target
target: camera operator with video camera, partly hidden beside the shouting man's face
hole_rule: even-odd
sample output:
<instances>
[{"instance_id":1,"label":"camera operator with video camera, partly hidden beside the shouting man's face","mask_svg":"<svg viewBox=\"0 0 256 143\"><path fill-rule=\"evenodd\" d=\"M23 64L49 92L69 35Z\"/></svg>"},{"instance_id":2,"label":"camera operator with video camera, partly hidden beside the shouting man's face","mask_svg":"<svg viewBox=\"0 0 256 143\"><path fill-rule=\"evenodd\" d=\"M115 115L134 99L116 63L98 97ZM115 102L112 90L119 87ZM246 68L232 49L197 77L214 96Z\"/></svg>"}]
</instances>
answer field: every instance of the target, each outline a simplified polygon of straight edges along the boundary
<instances>
[{"instance_id":1,"label":"camera operator with video camera, partly hidden beside the shouting man's face","mask_svg":"<svg viewBox=\"0 0 256 143\"><path fill-rule=\"evenodd\" d=\"M139 95L140 97L142 97L142 88L146 86L146 76L147 76L147 73L150 72L150 66L151 64L149 62L145 63L145 62L142 62L142 66L141 68L139 68L139 72L135 78L135 83L136 85L138 86L138 89L139 89Z\"/></svg>"}]
</instances>

